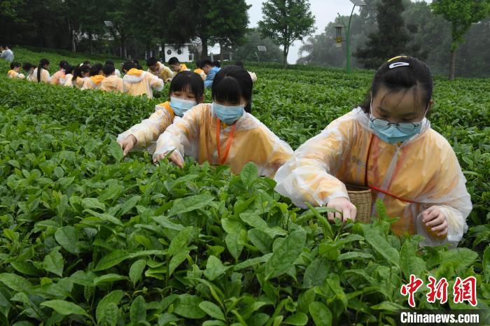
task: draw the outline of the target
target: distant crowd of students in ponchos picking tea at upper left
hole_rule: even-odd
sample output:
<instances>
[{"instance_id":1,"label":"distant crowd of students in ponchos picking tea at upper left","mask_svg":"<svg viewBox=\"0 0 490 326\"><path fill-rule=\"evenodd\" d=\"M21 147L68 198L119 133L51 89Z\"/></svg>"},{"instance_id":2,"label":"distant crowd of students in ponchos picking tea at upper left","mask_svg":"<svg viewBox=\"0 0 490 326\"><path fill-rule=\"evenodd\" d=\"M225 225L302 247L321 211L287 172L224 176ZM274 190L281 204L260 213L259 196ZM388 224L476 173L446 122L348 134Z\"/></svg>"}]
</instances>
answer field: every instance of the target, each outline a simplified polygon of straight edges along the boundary
<instances>
[{"instance_id":1,"label":"distant crowd of students in ponchos picking tea at upper left","mask_svg":"<svg viewBox=\"0 0 490 326\"><path fill-rule=\"evenodd\" d=\"M179 62L176 57L169 59L169 67L151 57L146 60L147 71L144 71L136 60L125 62L122 65L124 73L122 78L121 72L116 69L111 60L107 60L104 65L99 63L91 65L90 62L85 61L77 66L71 66L62 60L59 62L59 70L52 76L48 71L49 65L48 59L41 59L37 66L31 63L25 63L21 66L18 62L12 62L8 77L26 78L36 83L76 87L80 90L120 92L133 96L145 95L151 99L153 98L153 90L163 90L164 83L169 83L172 78L183 71L190 71L186 64ZM21 72L21 69L25 71L27 76ZM197 62L197 69L194 70L194 73L197 73L204 81L205 87L211 88L214 76L220 69L219 62L204 59ZM255 73L250 74L251 78L256 80Z\"/></svg>"}]
</instances>

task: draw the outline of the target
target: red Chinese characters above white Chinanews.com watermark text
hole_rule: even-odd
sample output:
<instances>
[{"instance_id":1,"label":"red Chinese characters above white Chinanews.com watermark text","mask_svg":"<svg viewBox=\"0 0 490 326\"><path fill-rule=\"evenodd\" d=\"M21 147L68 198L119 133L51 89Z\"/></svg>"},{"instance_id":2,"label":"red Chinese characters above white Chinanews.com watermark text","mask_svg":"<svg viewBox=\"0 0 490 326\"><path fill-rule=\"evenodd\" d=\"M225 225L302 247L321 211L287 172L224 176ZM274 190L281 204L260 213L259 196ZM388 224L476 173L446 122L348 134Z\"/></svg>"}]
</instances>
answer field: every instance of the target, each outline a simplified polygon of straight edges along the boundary
<instances>
[{"instance_id":1,"label":"red Chinese characters above white Chinanews.com watermark text","mask_svg":"<svg viewBox=\"0 0 490 326\"><path fill-rule=\"evenodd\" d=\"M398 311L397 325L486 325L484 311L479 309L466 310L444 310L444 309L414 309L416 307L415 293L421 290L423 281L413 274L410 275L409 283L403 284L400 294L407 298L407 303L412 309ZM449 282L446 278L437 281L433 276L428 277L426 285L428 292L426 300L430 304L439 302L446 304L452 299L454 304L470 304L476 307L477 301L477 279L475 276L467 278L456 277L456 281L449 292ZM449 295L451 295L449 297ZM486 316L488 317L488 316ZM486 319L486 318L485 318Z\"/></svg>"}]
</instances>

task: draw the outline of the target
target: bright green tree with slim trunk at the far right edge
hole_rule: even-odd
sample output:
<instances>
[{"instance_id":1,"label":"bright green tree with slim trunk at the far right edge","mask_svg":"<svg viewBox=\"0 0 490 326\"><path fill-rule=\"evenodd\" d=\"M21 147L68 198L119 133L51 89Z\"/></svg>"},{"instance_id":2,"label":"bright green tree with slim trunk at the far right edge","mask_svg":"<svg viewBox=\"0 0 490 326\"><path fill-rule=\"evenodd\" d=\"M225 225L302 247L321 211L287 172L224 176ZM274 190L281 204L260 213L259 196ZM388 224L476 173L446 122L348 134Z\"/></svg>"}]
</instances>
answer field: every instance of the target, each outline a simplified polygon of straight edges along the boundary
<instances>
[{"instance_id":1,"label":"bright green tree with slim trunk at the far right edge","mask_svg":"<svg viewBox=\"0 0 490 326\"><path fill-rule=\"evenodd\" d=\"M451 59L449 80L454 80L456 70L456 50L464 42L464 34L471 24L483 20L490 14L490 0L435 0L431 4L436 15L442 15L451 22Z\"/></svg>"}]
</instances>

